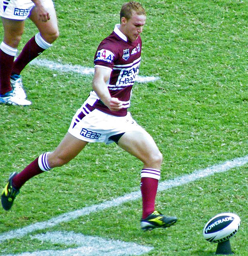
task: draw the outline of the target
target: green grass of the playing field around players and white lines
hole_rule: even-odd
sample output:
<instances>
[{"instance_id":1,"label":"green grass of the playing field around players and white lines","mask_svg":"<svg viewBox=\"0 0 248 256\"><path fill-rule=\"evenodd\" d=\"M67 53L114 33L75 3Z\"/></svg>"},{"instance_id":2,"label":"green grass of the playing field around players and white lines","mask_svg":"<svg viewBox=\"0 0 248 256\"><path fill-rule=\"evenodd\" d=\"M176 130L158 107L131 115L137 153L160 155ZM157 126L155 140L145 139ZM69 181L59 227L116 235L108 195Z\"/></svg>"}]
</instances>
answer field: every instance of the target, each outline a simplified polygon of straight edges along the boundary
<instances>
[{"instance_id":1,"label":"green grass of the playing field around players and white lines","mask_svg":"<svg viewBox=\"0 0 248 256\"><path fill-rule=\"evenodd\" d=\"M60 37L39 58L93 68L95 50L119 23L122 3L55 0ZM130 111L164 156L160 181L248 156L248 2L141 3L147 21L140 75L160 79L134 85ZM34 34L36 28L27 21L19 51ZM28 65L22 76L33 104L0 106L2 187L10 172L21 171L57 146L88 96L93 78L35 65ZM66 166L28 181L9 212L0 208L0 236L139 191L141 167L114 144L88 145ZM143 256L213 256L217 245L204 240L203 227L218 213L232 212L241 218L241 228L231 238L231 248L236 256L248 256L248 164L161 191L156 205L163 213L176 215L176 225L142 232L140 198L5 239L0 255L76 248L76 241L69 246L33 238L73 231L153 247Z\"/></svg>"}]
</instances>

